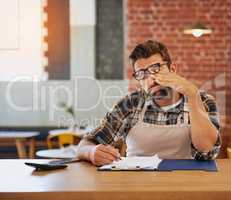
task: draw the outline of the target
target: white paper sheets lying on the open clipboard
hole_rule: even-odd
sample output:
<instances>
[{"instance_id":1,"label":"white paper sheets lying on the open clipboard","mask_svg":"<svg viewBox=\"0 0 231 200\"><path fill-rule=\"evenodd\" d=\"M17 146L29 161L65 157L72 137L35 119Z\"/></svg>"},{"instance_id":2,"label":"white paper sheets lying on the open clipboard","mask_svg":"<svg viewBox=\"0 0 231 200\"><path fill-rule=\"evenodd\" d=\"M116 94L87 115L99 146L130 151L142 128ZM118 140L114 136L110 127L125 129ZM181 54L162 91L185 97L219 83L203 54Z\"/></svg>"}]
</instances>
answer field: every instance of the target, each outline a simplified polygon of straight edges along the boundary
<instances>
[{"instance_id":1,"label":"white paper sheets lying on the open clipboard","mask_svg":"<svg viewBox=\"0 0 231 200\"><path fill-rule=\"evenodd\" d=\"M161 159L155 156L134 156L134 157L121 157L108 165L103 165L98 168L99 171L113 171L113 170L156 170Z\"/></svg>"}]
</instances>

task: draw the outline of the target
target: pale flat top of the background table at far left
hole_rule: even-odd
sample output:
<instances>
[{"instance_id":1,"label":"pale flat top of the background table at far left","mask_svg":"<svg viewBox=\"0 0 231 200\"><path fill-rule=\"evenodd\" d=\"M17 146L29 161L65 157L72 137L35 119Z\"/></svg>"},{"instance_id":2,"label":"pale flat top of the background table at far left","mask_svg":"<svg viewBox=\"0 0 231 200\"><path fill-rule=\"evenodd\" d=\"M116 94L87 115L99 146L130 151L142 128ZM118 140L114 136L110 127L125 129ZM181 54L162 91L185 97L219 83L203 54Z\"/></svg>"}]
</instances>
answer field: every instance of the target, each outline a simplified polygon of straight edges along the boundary
<instances>
[{"instance_id":1,"label":"pale flat top of the background table at far left","mask_svg":"<svg viewBox=\"0 0 231 200\"><path fill-rule=\"evenodd\" d=\"M0 131L0 138L30 138L38 135L37 131Z\"/></svg>"}]
</instances>

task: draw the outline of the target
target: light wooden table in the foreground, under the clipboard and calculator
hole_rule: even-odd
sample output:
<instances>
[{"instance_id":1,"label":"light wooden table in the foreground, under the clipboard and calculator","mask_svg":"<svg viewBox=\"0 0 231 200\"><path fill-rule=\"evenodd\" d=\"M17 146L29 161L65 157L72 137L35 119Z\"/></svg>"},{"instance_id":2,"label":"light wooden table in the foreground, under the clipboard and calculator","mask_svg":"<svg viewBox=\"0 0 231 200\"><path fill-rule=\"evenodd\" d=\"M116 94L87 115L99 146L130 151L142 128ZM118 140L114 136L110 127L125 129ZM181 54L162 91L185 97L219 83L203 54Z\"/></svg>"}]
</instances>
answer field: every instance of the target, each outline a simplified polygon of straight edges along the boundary
<instances>
[{"instance_id":1,"label":"light wooden table in the foreground, under the clipboard and calculator","mask_svg":"<svg viewBox=\"0 0 231 200\"><path fill-rule=\"evenodd\" d=\"M85 162L69 164L66 169L36 172L25 166L25 161L0 160L0 199L231 199L228 159L217 161L219 172L99 172Z\"/></svg>"}]
</instances>

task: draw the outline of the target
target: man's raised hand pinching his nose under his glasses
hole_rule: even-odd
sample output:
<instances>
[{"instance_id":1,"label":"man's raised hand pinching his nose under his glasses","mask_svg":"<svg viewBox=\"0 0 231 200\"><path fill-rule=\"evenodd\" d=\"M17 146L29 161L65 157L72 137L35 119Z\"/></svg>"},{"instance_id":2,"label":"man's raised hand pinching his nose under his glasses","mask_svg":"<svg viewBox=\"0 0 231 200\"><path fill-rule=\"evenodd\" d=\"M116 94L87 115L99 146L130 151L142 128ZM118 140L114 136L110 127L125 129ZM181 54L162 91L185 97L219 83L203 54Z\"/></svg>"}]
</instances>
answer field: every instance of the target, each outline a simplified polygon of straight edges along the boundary
<instances>
[{"instance_id":1,"label":"man's raised hand pinching his nose under his glasses","mask_svg":"<svg viewBox=\"0 0 231 200\"><path fill-rule=\"evenodd\" d=\"M189 98L197 94L197 87L175 72L159 72L152 77L158 84L170 87Z\"/></svg>"}]
</instances>

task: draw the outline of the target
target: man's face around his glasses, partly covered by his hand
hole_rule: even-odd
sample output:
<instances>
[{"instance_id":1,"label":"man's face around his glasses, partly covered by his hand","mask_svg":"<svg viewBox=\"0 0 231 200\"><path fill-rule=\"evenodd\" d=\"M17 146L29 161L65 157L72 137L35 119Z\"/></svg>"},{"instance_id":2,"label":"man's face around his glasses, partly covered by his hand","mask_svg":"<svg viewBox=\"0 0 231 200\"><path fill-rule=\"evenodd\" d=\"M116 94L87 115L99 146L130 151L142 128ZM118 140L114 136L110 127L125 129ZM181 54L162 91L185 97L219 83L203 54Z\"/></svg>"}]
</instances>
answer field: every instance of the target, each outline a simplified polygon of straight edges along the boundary
<instances>
[{"instance_id":1,"label":"man's face around his glasses, partly covered by his hand","mask_svg":"<svg viewBox=\"0 0 231 200\"><path fill-rule=\"evenodd\" d=\"M160 54L154 54L150 56L149 58L141 58L138 59L134 64L134 70L137 72L138 70L147 69L149 66L153 64L163 64L165 61L163 61ZM160 71L162 72L168 72L169 68L167 64L161 65ZM143 80L140 80L141 87L145 90L146 93L150 95L160 95L161 96L161 90L163 89L162 86L157 84L155 80L153 79L152 75L146 72L145 78Z\"/></svg>"}]
</instances>

